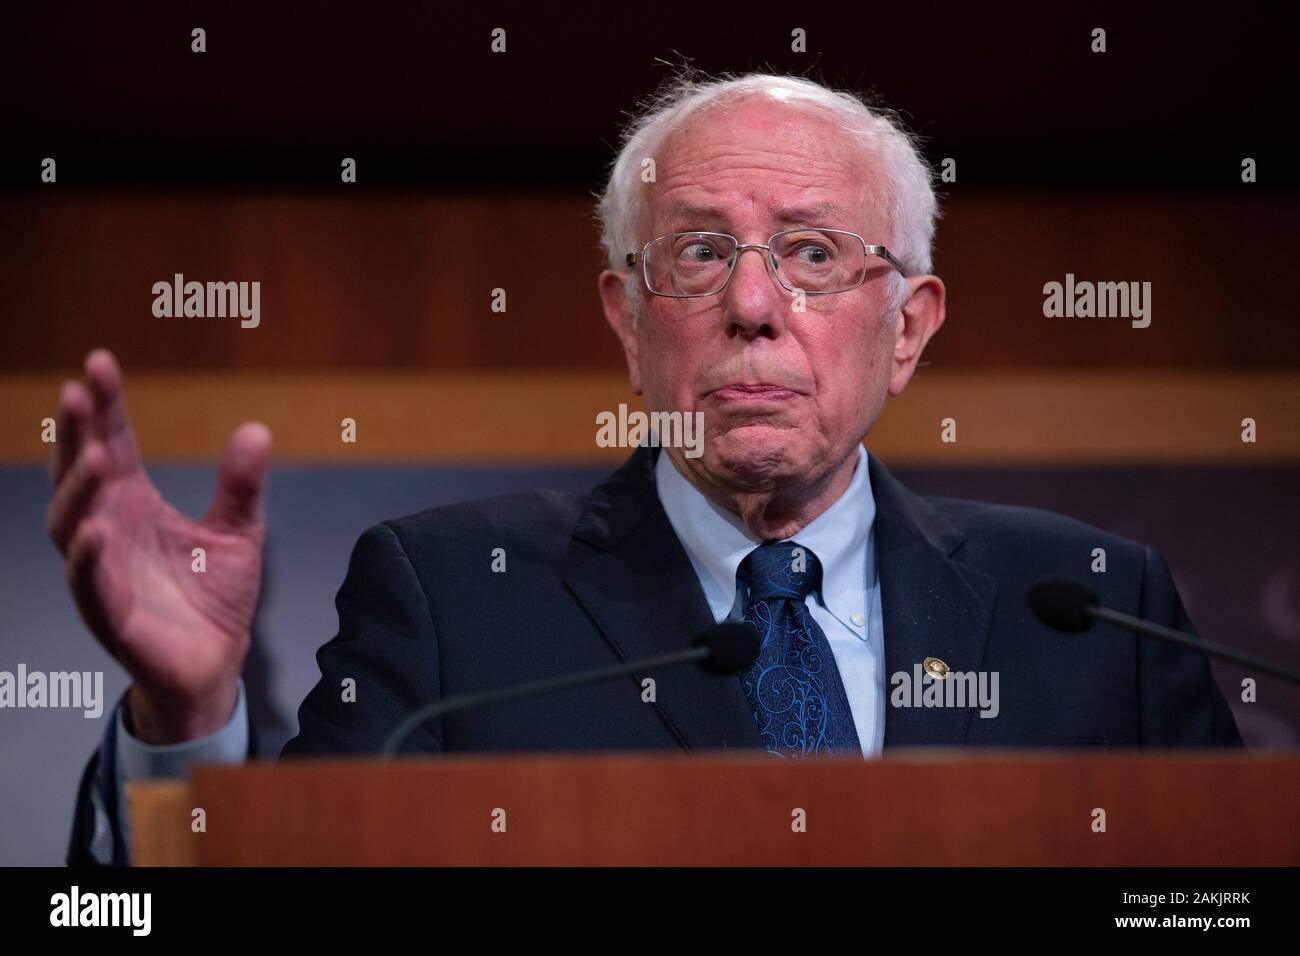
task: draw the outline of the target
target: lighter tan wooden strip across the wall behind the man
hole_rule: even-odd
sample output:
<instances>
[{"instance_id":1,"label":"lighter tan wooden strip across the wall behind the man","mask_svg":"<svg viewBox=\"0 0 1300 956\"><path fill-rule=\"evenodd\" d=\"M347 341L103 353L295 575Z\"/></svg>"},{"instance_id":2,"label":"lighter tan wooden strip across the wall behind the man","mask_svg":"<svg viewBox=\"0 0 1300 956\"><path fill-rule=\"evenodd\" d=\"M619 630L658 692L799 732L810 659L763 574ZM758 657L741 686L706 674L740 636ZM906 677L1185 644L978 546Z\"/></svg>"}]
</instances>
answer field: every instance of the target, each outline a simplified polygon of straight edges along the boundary
<instances>
[{"instance_id":1,"label":"lighter tan wooden strip across the wall behind the man","mask_svg":"<svg viewBox=\"0 0 1300 956\"><path fill-rule=\"evenodd\" d=\"M40 462L40 421L60 378L0 382L0 462ZM618 372L569 373L144 373L127 405L150 458L220 454L240 421L276 436L274 454L304 462L608 462L595 416L641 407ZM358 423L343 444L339 421ZM1240 440L1243 418L1257 441ZM957 441L940 441L941 420ZM889 399L867 440L890 466L1139 464L1300 460L1296 373L1005 373L924 371Z\"/></svg>"}]
</instances>

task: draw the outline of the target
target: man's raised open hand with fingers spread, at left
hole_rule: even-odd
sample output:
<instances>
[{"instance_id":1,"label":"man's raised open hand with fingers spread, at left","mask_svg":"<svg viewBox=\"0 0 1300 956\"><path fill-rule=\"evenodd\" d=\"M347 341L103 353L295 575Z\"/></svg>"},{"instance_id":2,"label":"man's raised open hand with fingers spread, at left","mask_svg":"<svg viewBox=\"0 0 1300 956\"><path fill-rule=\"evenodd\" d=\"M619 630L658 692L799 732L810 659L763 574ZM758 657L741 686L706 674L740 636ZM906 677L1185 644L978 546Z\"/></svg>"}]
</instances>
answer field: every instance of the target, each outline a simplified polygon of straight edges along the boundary
<instances>
[{"instance_id":1,"label":"man's raised open hand with fingers spread, at left","mask_svg":"<svg viewBox=\"0 0 1300 956\"><path fill-rule=\"evenodd\" d=\"M82 619L135 682L135 736L161 744L214 732L235 705L261 588L269 429L235 429L199 520L150 481L110 352L87 356L86 384L65 382L56 437L47 528ZM205 571L192 570L195 548Z\"/></svg>"}]
</instances>

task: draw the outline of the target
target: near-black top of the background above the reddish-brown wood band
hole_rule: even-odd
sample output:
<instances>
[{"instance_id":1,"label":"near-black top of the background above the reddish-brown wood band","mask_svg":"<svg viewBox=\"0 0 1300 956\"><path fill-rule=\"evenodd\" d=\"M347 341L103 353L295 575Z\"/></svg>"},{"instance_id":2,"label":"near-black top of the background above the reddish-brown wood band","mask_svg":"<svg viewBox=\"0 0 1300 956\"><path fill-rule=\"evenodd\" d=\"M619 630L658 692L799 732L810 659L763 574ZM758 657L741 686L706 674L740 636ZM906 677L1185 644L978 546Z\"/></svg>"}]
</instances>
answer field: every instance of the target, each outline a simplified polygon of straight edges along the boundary
<instances>
[{"instance_id":1,"label":"near-black top of the background above the reddish-brown wood band","mask_svg":"<svg viewBox=\"0 0 1300 956\"><path fill-rule=\"evenodd\" d=\"M57 147L88 160L68 185L334 186L321 156L364 143L372 182L588 187L668 61L874 91L972 187L1234 191L1251 155L1273 193L1294 179L1287 7L26 5L0 39L5 181Z\"/></svg>"}]
</instances>

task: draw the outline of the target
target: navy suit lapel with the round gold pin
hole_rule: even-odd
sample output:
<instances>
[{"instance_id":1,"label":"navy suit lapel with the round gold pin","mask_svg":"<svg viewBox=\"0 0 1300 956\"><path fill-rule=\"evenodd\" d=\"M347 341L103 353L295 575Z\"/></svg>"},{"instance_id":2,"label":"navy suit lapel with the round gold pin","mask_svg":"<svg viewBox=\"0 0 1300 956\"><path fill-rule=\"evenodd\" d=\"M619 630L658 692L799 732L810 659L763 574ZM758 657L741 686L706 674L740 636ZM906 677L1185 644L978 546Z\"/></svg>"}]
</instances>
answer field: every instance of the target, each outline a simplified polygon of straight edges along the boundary
<instances>
[{"instance_id":1,"label":"navy suit lapel with the round gold pin","mask_svg":"<svg viewBox=\"0 0 1300 956\"><path fill-rule=\"evenodd\" d=\"M913 702L913 695L919 696L913 684L916 666L927 657L937 657L953 671L980 669L997 581L950 557L965 536L900 484L875 455L870 473L885 631L884 745L958 747L972 708L896 706L894 700L906 696ZM901 687L893 683L898 674L907 678Z\"/></svg>"}]
</instances>

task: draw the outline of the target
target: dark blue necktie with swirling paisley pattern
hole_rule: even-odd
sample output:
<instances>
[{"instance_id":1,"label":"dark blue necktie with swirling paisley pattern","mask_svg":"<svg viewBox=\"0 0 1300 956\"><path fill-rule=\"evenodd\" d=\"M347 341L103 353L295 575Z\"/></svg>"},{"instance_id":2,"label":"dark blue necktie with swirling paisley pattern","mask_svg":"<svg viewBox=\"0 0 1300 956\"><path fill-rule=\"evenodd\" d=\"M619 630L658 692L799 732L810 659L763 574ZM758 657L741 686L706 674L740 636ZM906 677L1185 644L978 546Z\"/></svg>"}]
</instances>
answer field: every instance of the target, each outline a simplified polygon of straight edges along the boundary
<instances>
[{"instance_id":1,"label":"dark blue necktie with swirling paisley pattern","mask_svg":"<svg viewBox=\"0 0 1300 956\"><path fill-rule=\"evenodd\" d=\"M750 551L740 576L749 584L745 620L763 639L741 684L768 753L861 754L835 654L805 604L822 585L816 555L793 541L768 541Z\"/></svg>"}]
</instances>

